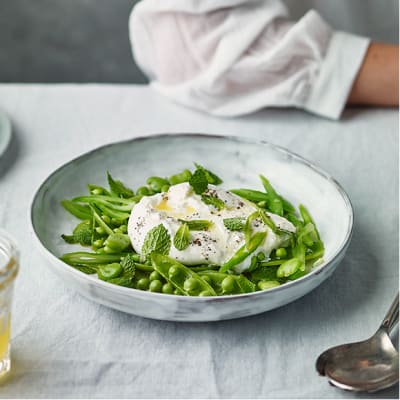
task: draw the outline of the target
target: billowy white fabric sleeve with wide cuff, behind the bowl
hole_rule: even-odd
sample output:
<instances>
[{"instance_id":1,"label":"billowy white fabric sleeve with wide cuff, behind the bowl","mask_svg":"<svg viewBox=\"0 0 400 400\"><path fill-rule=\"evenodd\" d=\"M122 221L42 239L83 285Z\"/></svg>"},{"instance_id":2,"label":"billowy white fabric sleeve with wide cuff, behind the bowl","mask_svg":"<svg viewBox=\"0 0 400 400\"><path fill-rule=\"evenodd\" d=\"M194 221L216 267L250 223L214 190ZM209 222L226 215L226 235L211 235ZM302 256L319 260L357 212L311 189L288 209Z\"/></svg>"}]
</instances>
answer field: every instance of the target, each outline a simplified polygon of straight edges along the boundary
<instances>
[{"instance_id":1,"label":"billowy white fabric sleeve with wide cuff, behind the bowl","mask_svg":"<svg viewBox=\"0 0 400 400\"><path fill-rule=\"evenodd\" d=\"M152 87L219 116L293 106L337 119L369 44L314 10L291 22L279 0L143 0L129 25Z\"/></svg>"}]
</instances>

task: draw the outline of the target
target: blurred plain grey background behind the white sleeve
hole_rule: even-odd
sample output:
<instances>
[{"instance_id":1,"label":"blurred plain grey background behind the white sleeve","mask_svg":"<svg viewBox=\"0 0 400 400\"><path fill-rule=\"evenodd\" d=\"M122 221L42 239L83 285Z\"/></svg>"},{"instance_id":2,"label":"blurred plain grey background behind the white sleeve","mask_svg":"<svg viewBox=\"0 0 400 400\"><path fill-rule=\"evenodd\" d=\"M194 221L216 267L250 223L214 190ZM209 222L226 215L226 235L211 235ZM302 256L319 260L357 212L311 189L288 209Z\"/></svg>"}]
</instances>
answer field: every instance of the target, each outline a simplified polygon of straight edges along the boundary
<instances>
[{"instance_id":1,"label":"blurred plain grey background behind the white sleeve","mask_svg":"<svg viewBox=\"0 0 400 400\"><path fill-rule=\"evenodd\" d=\"M137 1L0 0L0 82L146 82L128 40ZM316 8L336 29L398 43L398 0L285 2L295 19Z\"/></svg>"}]
</instances>

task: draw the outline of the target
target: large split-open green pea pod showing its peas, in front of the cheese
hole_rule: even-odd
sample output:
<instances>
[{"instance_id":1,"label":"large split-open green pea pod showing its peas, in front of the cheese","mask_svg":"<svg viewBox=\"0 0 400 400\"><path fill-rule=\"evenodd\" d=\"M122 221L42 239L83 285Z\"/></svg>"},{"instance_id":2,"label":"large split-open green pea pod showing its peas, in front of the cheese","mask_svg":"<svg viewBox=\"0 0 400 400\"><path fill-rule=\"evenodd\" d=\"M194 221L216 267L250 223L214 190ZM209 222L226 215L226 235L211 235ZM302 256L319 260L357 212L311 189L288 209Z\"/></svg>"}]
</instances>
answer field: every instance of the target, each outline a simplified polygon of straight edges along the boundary
<instances>
[{"instance_id":1,"label":"large split-open green pea pod showing its peas, in front of the cheese","mask_svg":"<svg viewBox=\"0 0 400 400\"><path fill-rule=\"evenodd\" d=\"M154 269L167 281L172 283L186 296L198 296L201 292L208 292L216 296L215 290L196 272L182 265L168 256L152 253L151 262Z\"/></svg>"}]
</instances>

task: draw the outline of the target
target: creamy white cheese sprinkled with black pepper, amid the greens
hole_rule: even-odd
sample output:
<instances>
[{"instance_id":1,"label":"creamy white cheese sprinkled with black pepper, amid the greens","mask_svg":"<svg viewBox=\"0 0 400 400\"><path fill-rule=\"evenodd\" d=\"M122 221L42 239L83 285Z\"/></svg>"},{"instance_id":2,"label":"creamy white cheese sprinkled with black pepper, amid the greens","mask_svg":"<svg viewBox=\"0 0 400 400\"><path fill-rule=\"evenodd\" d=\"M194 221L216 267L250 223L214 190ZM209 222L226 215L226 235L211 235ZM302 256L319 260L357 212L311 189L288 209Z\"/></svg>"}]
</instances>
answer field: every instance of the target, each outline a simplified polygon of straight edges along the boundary
<instances>
[{"instance_id":1,"label":"creamy white cheese sprinkled with black pepper, amid the greens","mask_svg":"<svg viewBox=\"0 0 400 400\"><path fill-rule=\"evenodd\" d=\"M141 254L147 232L163 224L171 236L169 256L186 265L218 264L223 265L234 253L245 244L244 234L240 231L230 231L224 225L225 218L247 218L256 208L241 197L208 185L208 192L224 201L225 208L218 210L205 204L201 196L194 193L189 183L171 186L168 192L143 197L133 209L128 223L128 234L135 251ZM270 214L272 221L278 227L295 232L291 222L279 215ZM185 250L177 250L173 238L181 226L180 220L208 220L212 225L207 230L190 231L190 245ZM254 232L266 231L265 241L256 252L262 251L268 256L273 249L282 245L284 237L276 235L261 219L252 221ZM236 272L246 270L251 257L235 267Z\"/></svg>"}]
</instances>

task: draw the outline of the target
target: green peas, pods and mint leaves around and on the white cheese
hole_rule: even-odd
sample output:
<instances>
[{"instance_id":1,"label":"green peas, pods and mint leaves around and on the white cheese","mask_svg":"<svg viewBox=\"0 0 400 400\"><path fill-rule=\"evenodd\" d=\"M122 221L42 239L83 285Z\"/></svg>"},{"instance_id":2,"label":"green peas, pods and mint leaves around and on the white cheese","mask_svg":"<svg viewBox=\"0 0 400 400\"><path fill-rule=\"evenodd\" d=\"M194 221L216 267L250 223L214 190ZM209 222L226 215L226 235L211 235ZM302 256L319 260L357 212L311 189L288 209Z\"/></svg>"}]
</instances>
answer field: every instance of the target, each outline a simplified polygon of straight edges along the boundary
<instances>
[{"instance_id":1,"label":"green peas, pods and mint leaves around and on the white cheese","mask_svg":"<svg viewBox=\"0 0 400 400\"><path fill-rule=\"evenodd\" d=\"M250 201L256 210L246 218L226 218L224 226L244 234L245 244L223 265L185 266L168 256L171 246L184 250L190 243L190 231L207 230L212 221L179 220L174 237L158 225L145 237L142 254L135 253L127 234L132 208L143 196L166 192L169 187L188 182L205 204L221 210L226 204L208 189L222 180L213 172L195 164L193 172L185 169L169 178L152 176L136 191L115 180L107 172L108 188L89 184L89 194L62 200L61 205L79 222L71 234L61 237L68 244L90 247L92 251L76 251L61 256L61 260L85 273L97 274L106 282L164 294L183 296L221 296L268 290L307 274L324 255L324 244L308 210L296 208L260 175L264 191L232 189L230 192ZM286 218L296 227L296 233L275 225L268 213ZM275 234L284 235L284 245L268 257L257 251L267 232L253 232L252 220L259 218ZM234 267L243 260L250 267L237 274Z\"/></svg>"}]
</instances>

